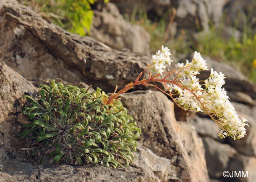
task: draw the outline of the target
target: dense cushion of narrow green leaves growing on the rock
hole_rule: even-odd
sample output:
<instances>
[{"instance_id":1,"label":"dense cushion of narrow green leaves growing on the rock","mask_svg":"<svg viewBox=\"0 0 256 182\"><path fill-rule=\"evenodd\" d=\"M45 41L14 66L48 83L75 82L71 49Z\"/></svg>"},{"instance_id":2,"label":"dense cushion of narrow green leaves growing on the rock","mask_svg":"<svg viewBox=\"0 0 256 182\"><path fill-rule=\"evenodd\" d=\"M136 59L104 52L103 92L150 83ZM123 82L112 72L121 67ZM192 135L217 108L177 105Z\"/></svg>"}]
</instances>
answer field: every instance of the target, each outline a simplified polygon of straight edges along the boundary
<instances>
[{"instance_id":1,"label":"dense cushion of narrow green leaves growing on the rock","mask_svg":"<svg viewBox=\"0 0 256 182\"><path fill-rule=\"evenodd\" d=\"M30 123L19 133L32 140L33 156L42 156L41 162L48 155L53 163L129 166L141 131L120 100L105 105L108 96L99 88L89 93L54 80L39 88L36 97L23 96L22 113Z\"/></svg>"}]
</instances>

